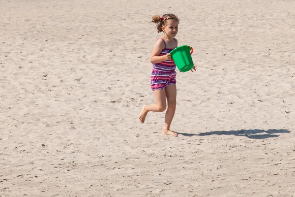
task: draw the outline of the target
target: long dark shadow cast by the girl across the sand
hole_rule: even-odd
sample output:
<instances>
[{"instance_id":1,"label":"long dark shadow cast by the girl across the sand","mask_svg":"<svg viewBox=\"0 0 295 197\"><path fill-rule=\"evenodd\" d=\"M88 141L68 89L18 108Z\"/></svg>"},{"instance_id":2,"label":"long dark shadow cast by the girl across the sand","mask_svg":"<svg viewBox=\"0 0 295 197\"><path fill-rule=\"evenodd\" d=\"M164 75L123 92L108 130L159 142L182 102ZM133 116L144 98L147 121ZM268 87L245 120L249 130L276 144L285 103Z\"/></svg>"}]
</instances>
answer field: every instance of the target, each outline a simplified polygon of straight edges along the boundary
<instances>
[{"instance_id":1,"label":"long dark shadow cast by the girl across the sand","mask_svg":"<svg viewBox=\"0 0 295 197\"><path fill-rule=\"evenodd\" d=\"M199 135L199 136L204 136L204 135L236 135L236 136L244 136L244 137L248 137L251 139L265 139L268 137L278 137L280 135L274 134L274 133L289 133L289 130L274 130L274 129L269 129L269 130L237 130L237 131L209 131L209 132L202 132L199 134L194 134L194 133L181 133L181 132L177 132L180 135L184 135L184 136L195 136L195 135ZM266 133L266 134L258 134L258 133Z\"/></svg>"}]
</instances>

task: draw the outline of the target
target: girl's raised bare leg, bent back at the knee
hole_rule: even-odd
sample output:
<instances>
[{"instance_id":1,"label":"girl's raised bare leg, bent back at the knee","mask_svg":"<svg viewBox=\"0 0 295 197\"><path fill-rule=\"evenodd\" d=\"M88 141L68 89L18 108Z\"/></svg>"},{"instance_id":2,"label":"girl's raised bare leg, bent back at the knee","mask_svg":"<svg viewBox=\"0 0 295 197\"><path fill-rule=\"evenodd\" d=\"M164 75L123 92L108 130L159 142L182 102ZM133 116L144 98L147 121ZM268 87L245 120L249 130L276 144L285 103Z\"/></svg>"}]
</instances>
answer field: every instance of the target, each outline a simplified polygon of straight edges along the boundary
<instances>
[{"instance_id":1,"label":"girl's raised bare leg, bent back at the knee","mask_svg":"<svg viewBox=\"0 0 295 197\"><path fill-rule=\"evenodd\" d=\"M141 123L144 123L146 120L146 116L149 111L154 112L163 112L166 109L166 92L165 89L159 89L153 91L156 103L152 103L150 105L144 105L142 111L139 115L139 120Z\"/></svg>"}]
</instances>

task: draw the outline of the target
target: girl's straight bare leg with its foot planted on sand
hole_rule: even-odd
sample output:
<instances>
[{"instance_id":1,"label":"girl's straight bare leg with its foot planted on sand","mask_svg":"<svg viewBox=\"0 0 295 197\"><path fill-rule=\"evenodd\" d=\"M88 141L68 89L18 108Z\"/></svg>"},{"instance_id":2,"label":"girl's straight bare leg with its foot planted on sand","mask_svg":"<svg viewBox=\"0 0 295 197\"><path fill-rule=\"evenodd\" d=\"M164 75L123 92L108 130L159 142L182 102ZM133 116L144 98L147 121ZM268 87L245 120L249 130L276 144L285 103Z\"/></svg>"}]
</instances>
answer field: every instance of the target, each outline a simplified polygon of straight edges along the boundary
<instances>
[{"instance_id":1,"label":"girl's straight bare leg with its foot planted on sand","mask_svg":"<svg viewBox=\"0 0 295 197\"><path fill-rule=\"evenodd\" d=\"M176 110L176 85L170 85L166 87L166 97L168 108L165 115L165 123L162 133L166 135L177 136L177 133L170 130L171 122L173 120Z\"/></svg>"}]
</instances>

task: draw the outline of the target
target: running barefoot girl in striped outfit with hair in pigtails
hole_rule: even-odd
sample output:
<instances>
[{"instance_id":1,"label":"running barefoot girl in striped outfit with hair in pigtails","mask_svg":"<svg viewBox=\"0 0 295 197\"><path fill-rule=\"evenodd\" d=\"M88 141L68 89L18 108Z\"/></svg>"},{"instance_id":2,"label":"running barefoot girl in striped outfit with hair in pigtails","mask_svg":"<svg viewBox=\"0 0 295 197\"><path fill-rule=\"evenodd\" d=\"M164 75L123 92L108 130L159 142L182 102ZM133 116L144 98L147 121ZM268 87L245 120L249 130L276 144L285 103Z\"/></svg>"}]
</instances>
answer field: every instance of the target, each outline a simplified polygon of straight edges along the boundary
<instances>
[{"instance_id":1,"label":"running barefoot girl in striped outfit with hair in pigtails","mask_svg":"<svg viewBox=\"0 0 295 197\"><path fill-rule=\"evenodd\" d=\"M176 110L176 65L171 62L170 52L177 47L177 39L174 37L178 32L179 19L174 14L164 14L162 17L153 16L151 22L156 23L158 33L164 33L157 39L150 56L150 63L152 63L150 85L156 103L144 105L139 120L144 123L149 111L165 111L167 98L168 108L162 133L177 136L176 132L170 130ZM196 66L193 69L196 70Z\"/></svg>"}]
</instances>

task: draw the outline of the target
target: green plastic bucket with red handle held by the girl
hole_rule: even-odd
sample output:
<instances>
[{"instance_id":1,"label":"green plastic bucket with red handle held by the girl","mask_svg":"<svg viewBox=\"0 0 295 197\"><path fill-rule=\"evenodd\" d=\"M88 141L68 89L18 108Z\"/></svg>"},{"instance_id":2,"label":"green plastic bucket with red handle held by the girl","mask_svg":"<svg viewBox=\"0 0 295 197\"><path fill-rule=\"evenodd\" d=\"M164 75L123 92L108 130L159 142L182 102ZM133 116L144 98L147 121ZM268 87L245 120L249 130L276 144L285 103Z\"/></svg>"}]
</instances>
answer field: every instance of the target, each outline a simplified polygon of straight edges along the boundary
<instances>
[{"instance_id":1,"label":"green plastic bucket with red handle held by the girl","mask_svg":"<svg viewBox=\"0 0 295 197\"><path fill-rule=\"evenodd\" d=\"M189 71L194 67L192 60L193 48L187 45L182 45L173 49L170 54L172 62L175 63L180 72Z\"/></svg>"}]
</instances>

